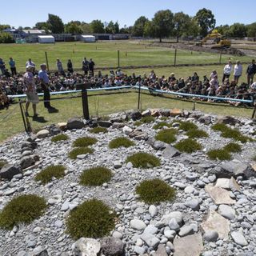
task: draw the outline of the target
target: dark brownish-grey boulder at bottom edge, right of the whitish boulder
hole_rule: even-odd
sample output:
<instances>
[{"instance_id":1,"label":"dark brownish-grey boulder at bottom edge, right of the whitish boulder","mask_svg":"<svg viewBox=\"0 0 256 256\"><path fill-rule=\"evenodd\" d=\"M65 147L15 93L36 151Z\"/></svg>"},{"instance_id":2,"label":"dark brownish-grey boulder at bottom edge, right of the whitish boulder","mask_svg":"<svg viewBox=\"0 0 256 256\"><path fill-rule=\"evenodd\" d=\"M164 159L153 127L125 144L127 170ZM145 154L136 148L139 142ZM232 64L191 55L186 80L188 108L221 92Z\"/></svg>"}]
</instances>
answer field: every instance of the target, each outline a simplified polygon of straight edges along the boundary
<instances>
[{"instance_id":1,"label":"dark brownish-grey boulder at bottom edge, right of the whitish boulder","mask_svg":"<svg viewBox=\"0 0 256 256\"><path fill-rule=\"evenodd\" d=\"M119 256L124 254L125 244L118 238L102 238L102 253L106 256Z\"/></svg>"}]
</instances>

